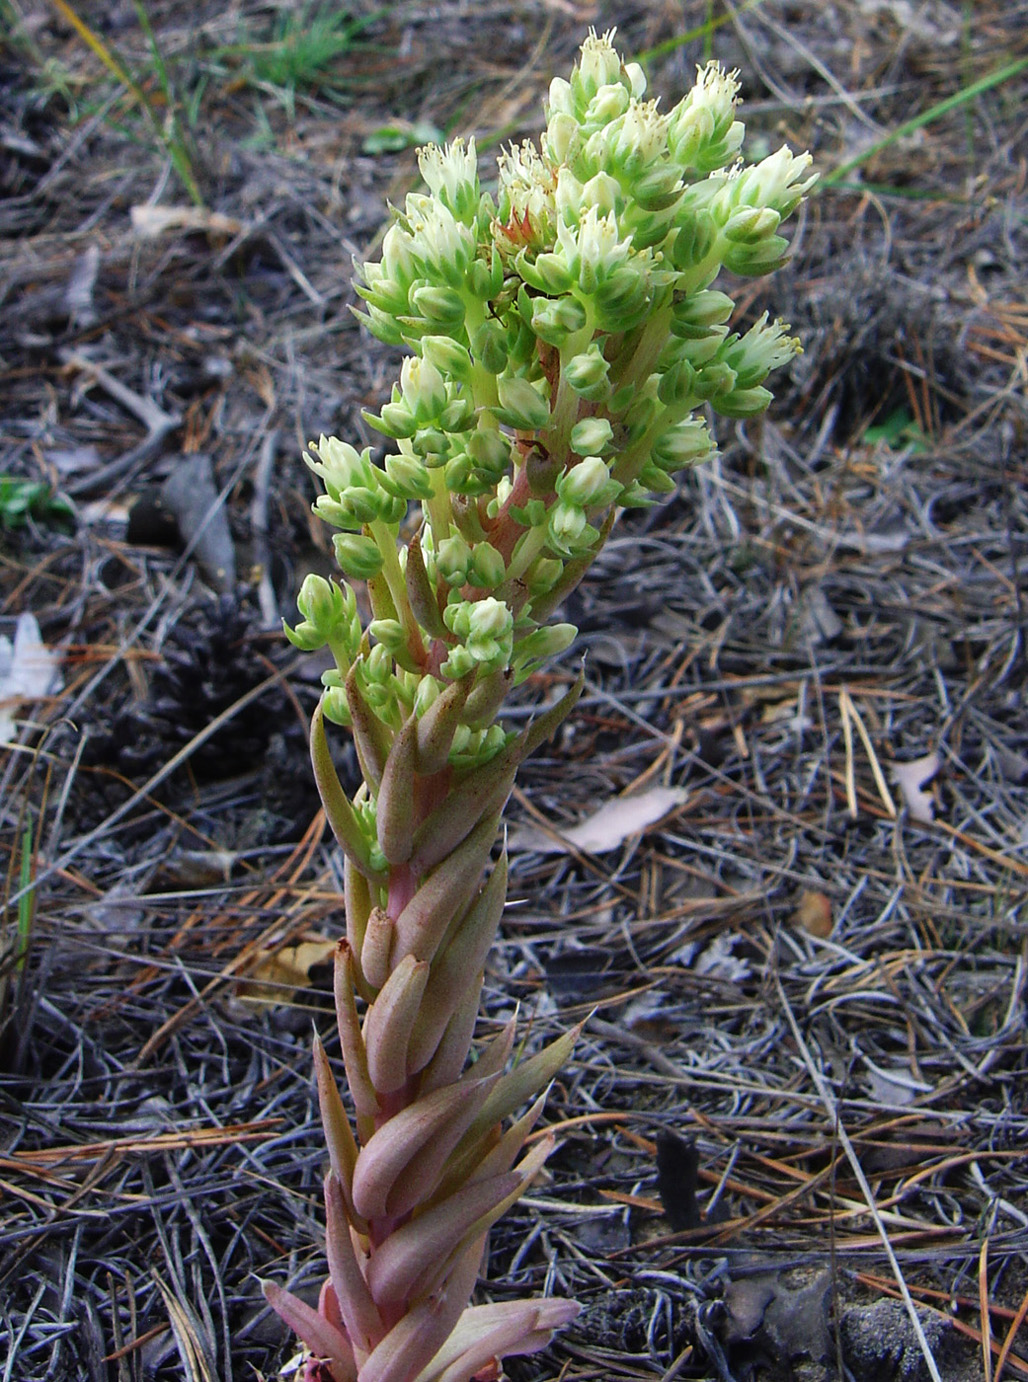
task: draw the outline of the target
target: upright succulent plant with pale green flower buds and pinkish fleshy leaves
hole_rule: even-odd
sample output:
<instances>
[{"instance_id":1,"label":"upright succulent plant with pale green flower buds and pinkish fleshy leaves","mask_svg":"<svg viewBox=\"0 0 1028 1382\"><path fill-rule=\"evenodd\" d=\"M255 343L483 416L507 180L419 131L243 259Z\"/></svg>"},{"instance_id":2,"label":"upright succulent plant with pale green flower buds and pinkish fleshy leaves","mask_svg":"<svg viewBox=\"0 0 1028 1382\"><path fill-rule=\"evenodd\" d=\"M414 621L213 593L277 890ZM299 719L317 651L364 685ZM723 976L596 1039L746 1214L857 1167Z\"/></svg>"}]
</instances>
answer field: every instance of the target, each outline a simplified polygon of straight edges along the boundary
<instances>
[{"instance_id":1,"label":"upright succulent plant with pale green flower buds and pinkish fleshy leaves","mask_svg":"<svg viewBox=\"0 0 1028 1382\"><path fill-rule=\"evenodd\" d=\"M732 330L713 285L782 263L808 155L746 164L735 73L701 68L665 109L613 37L590 30L553 80L539 145L499 158L496 200L474 141L419 151L424 189L356 282L369 330L406 347L365 415L395 446L379 463L321 438L308 459L336 560L366 582L359 598L308 576L286 630L334 662L311 756L344 854L334 990L356 1136L316 1043L332 1281L316 1312L279 1307L315 1349L307 1374L333 1382L468 1382L575 1313L466 1309L488 1224L547 1154L543 1139L518 1161L576 1035L506 1071L511 1023L470 1061L507 883L500 817L583 677L517 734L503 701L576 637L550 619L620 509L714 453L705 405L761 412L799 350L767 314ZM401 540L409 504L421 521ZM352 796L326 719L352 734Z\"/></svg>"}]
</instances>

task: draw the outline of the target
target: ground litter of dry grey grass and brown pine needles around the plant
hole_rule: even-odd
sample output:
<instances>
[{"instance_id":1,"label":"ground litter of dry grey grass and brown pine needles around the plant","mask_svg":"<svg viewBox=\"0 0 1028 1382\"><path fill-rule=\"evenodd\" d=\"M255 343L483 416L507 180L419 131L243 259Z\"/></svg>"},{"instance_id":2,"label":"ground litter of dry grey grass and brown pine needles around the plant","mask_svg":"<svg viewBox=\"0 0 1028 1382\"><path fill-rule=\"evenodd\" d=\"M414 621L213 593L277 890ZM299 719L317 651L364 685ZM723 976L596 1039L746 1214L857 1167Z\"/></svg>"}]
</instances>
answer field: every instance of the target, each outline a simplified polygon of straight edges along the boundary
<instances>
[{"instance_id":1,"label":"ground litter of dry grey grass and brown pine needles around the plant","mask_svg":"<svg viewBox=\"0 0 1028 1382\"><path fill-rule=\"evenodd\" d=\"M525 1382L1028 1376L1025 72L890 137L1024 58L1025 6L376 8L283 95L251 54L285 7L151 7L221 220L149 239L130 209L187 199L124 93L41 4L0 50L0 470L79 509L0 532L0 630L32 609L65 679L0 750L0 1378L274 1372L256 1276L323 1270L327 988L254 1010L238 976L339 926L316 676L275 626L326 560L300 446L355 435L394 365L344 308L413 155L365 141L532 133L587 23L674 93L709 12L768 146L875 152L746 289L807 346L771 415L569 612L587 692L514 817L688 796L611 853L515 857L482 1031L594 1016L484 1291L586 1306ZM159 111L131 7L80 12ZM220 605L160 507L203 455L246 587ZM926 756L922 796L895 766Z\"/></svg>"}]
</instances>

